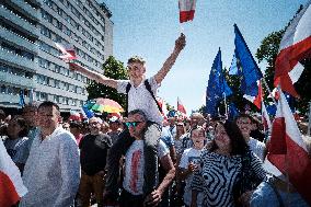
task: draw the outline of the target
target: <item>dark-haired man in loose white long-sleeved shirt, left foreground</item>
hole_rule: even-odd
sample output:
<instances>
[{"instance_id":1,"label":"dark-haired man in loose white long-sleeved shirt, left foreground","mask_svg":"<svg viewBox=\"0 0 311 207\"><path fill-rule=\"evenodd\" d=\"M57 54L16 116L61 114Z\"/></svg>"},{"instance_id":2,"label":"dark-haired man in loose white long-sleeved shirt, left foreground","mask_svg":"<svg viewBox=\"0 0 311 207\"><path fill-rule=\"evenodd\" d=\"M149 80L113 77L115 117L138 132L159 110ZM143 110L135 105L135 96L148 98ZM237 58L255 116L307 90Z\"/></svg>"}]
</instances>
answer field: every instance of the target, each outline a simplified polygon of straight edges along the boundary
<instances>
[{"instance_id":1,"label":"dark-haired man in loose white long-sleeved shirt, left foreground","mask_svg":"<svg viewBox=\"0 0 311 207\"><path fill-rule=\"evenodd\" d=\"M80 181L77 142L60 126L57 104L43 102L37 118L39 133L33 140L23 174L28 193L20 206L71 206Z\"/></svg>"}]
</instances>

